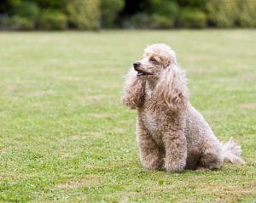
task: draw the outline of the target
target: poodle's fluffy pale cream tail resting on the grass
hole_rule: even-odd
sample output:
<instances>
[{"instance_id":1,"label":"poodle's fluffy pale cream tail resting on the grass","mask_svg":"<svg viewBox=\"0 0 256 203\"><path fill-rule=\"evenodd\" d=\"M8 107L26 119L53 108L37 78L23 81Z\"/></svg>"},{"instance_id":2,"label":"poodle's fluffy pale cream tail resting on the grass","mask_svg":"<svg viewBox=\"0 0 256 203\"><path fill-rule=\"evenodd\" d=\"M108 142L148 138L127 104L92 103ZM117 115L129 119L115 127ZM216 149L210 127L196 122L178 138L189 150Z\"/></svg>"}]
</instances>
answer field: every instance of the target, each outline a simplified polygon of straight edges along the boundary
<instances>
[{"instance_id":1,"label":"poodle's fluffy pale cream tail resting on the grass","mask_svg":"<svg viewBox=\"0 0 256 203\"><path fill-rule=\"evenodd\" d=\"M241 146L236 144L236 142L233 141L233 138L230 138L227 143L221 143L221 145L224 163L245 163L241 158Z\"/></svg>"}]
</instances>

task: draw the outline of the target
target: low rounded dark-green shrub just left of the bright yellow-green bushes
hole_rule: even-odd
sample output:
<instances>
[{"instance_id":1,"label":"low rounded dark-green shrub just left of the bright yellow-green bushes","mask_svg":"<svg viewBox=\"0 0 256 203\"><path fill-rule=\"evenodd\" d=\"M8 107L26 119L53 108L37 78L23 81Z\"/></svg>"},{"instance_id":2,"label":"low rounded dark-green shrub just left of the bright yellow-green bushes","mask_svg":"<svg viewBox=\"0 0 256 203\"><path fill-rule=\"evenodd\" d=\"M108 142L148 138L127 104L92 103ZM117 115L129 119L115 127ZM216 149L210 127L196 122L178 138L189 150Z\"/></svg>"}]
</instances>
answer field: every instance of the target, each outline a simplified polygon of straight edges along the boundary
<instances>
[{"instance_id":1,"label":"low rounded dark-green shrub just left of the bright yellow-green bushes","mask_svg":"<svg viewBox=\"0 0 256 203\"><path fill-rule=\"evenodd\" d=\"M196 8L183 8L177 19L177 25L185 28L204 28L207 15Z\"/></svg>"}]
</instances>

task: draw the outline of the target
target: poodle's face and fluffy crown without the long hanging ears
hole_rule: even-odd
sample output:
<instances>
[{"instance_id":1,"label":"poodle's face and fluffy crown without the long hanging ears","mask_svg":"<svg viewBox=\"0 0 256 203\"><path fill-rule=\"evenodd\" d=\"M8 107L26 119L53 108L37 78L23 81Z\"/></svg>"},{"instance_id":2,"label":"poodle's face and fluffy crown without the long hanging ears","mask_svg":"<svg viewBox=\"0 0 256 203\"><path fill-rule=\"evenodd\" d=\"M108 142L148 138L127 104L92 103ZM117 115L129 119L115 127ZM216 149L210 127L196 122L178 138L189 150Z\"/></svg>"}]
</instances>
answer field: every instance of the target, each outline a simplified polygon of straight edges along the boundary
<instances>
[{"instance_id":1,"label":"poodle's face and fluffy crown without the long hanging ears","mask_svg":"<svg viewBox=\"0 0 256 203\"><path fill-rule=\"evenodd\" d=\"M170 65L176 65L176 54L166 44L158 43L145 48L143 59L133 64L137 76L147 79L160 78L163 70Z\"/></svg>"}]
</instances>

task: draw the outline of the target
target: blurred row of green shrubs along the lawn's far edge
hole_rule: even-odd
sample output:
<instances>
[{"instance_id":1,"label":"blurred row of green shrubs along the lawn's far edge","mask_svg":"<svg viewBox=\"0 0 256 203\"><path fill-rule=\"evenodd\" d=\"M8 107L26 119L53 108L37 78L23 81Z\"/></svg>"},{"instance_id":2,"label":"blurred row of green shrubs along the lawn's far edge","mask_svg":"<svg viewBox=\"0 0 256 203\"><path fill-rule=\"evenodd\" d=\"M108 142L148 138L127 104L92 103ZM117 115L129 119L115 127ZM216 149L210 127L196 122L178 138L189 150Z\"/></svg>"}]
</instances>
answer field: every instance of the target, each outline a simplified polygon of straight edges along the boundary
<instances>
[{"instance_id":1,"label":"blurred row of green shrubs along the lawn's far edge","mask_svg":"<svg viewBox=\"0 0 256 203\"><path fill-rule=\"evenodd\" d=\"M0 30L256 27L256 0L1 0Z\"/></svg>"}]
</instances>

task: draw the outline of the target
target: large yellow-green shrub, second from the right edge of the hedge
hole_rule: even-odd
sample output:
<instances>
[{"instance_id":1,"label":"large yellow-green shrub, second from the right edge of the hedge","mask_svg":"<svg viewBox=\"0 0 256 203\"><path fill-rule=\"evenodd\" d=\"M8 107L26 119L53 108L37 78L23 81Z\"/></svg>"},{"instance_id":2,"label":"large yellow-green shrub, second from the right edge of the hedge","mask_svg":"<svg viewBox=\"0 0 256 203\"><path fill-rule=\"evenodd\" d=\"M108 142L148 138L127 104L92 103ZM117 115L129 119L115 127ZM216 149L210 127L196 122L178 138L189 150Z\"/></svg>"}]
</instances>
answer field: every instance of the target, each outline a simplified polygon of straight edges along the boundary
<instances>
[{"instance_id":1,"label":"large yellow-green shrub, second from the right edge of the hedge","mask_svg":"<svg viewBox=\"0 0 256 203\"><path fill-rule=\"evenodd\" d=\"M207 3L208 20L217 27L236 25L238 13L236 0L211 0Z\"/></svg>"}]
</instances>

